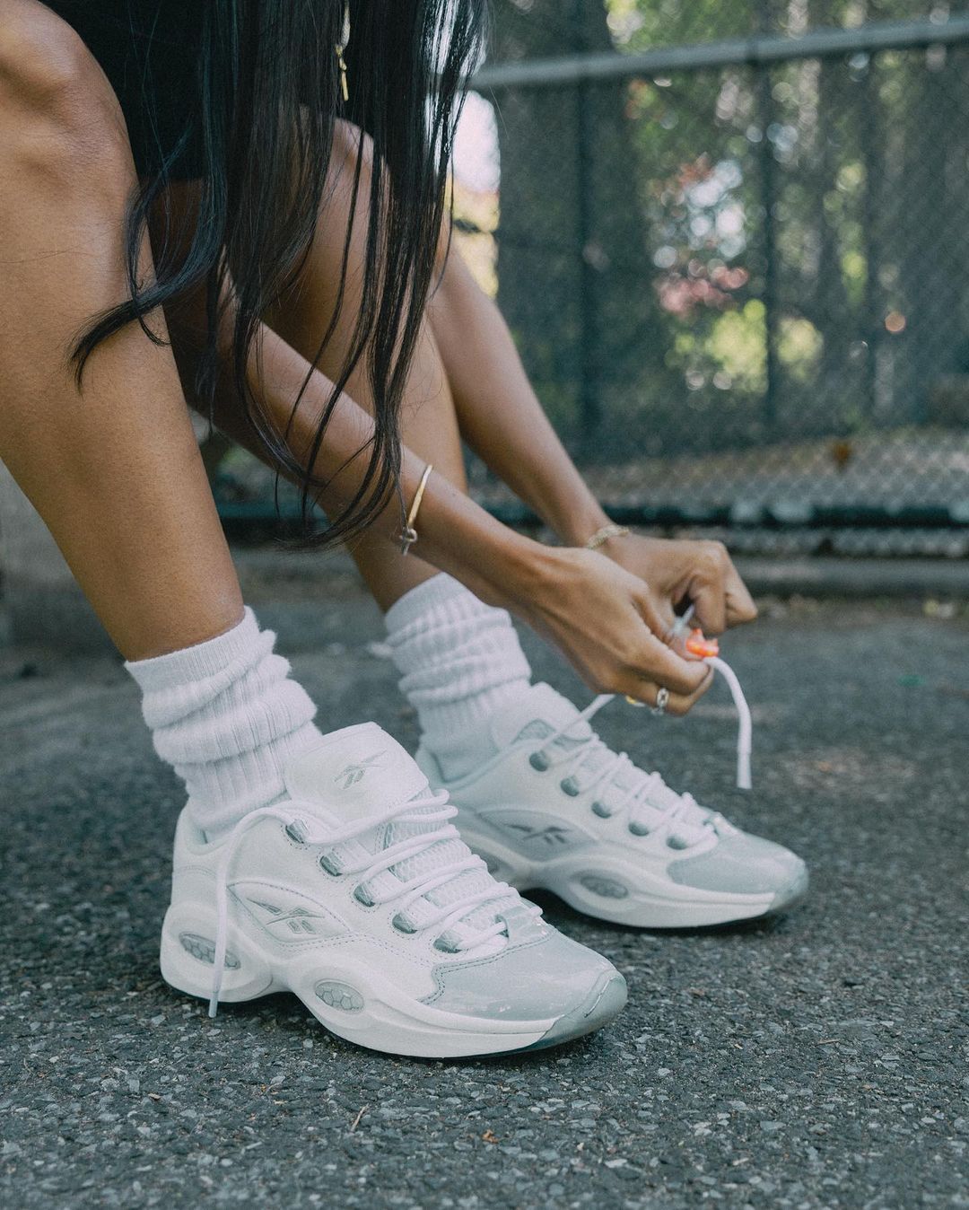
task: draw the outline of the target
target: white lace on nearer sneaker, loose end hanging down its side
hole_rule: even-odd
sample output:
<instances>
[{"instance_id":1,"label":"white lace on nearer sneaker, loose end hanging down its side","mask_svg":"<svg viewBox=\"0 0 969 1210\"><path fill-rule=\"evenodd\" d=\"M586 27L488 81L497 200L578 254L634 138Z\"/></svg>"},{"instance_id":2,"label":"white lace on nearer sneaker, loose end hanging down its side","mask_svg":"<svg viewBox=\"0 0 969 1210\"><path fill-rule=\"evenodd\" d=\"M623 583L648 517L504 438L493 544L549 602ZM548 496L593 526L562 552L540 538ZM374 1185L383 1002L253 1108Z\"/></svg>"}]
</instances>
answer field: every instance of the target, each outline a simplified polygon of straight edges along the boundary
<instances>
[{"instance_id":1,"label":"white lace on nearer sneaker, loose end hanging down its side","mask_svg":"<svg viewBox=\"0 0 969 1210\"><path fill-rule=\"evenodd\" d=\"M432 845L436 845L439 841L460 840L457 829L454 824L448 823L449 819L452 819L457 814L457 808L448 805L446 791L440 791L438 794L431 794L428 791L427 794L411 799L409 802L404 803L403 807L397 806L392 811L385 812L382 816L376 816L365 820L357 820L356 823L348 824L346 828L341 828L336 831L325 831L321 825L313 826L315 819L312 816L312 807L307 808L310 816L308 819L300 814L299 808L299 802L259 807L256 811L250 811L247 816L243 816L226 839L215 870L217 930L214 969L212 975L212 996L208 1004L209 1016L214 1018L218 1012L219 992L221 991L223 972L225 967L225 953L229 944L229 868L232 863L232 858L235 857L240 841L259 819L267 817L278 819L290 829L290 836L293 836L294 840L299 840L304 845L325 845L327 849L333 849L345 841L357 840L367 832L373 831L375 828L380 828L388 823L442 825L431 831L406 836L403 840L380 849L377 853L368 853L368 859L365 862L362 860L353 864L341 862L339 869L340 875L359 875L357 885L358 889L364 887L365 883L368 883L371 878L375 878L377 875L385 874L398 863L408 860L408 858L417 857L420 853L426 852ZM321 854L321 857L325 857L325 852ZM480 857L475 857L473 853L469 853L468 857L448 862L443 865L437 865L433 869L426 870L406 881L400 880L399 886L394 887L390 894L376 895L370 894L368 891L368 904L388 904L399 901L397 910L397 916L399 916L417 899L428 894L428 892L443 887L458 875L468 870L486 869L488 866ZM496 882L495 880L489 878L489 883L486 886L438 908L437 912L432 912L429 916L423 917L420 922L414 924L413 928L409 928L408 932L422 933L428 928L439 928L443 935L449 928L465 920L465 917L475 909L483 908L485 904L491 901L506 899L512 894L514 894L514 892L507 883ZM428 900L428 903L431 903L431 900ZM436 905L432 904L432 906ZM530 915L537 916L541 914L541 909L532 908L531 905L529 905L526 910ZM490 924L475 928L473 939L468 941L458 940L454 944L454 946L449 946L449 949L452 952L473 949L504 932L504 922L496 917Z\"/></svg>"}]
</instances>

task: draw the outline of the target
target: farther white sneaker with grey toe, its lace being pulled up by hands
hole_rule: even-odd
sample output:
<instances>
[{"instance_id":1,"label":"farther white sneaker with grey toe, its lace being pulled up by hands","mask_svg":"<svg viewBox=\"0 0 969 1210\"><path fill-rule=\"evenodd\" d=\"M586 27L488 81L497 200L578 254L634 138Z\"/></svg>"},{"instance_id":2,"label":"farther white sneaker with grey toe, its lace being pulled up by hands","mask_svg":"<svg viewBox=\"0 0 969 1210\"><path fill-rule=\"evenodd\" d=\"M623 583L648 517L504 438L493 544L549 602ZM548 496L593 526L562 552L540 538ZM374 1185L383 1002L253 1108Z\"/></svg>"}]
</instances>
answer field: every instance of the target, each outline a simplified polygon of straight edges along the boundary
<instances>
[{"instance_id":1,"label":"farther white sneaker with grey toe, its lace being pulled up by hands","mask_svg":"<svg viewBox=\"0 0 969 1210\"><path fill-rule=\"evenodd\" d=\"M577 911L641 928L722 924L790 908L807 869L611 751L586 715L532 685L491 719L497 755L445 782L467 843L519 889L554 891Z\"/></svg>"}]
</instances>

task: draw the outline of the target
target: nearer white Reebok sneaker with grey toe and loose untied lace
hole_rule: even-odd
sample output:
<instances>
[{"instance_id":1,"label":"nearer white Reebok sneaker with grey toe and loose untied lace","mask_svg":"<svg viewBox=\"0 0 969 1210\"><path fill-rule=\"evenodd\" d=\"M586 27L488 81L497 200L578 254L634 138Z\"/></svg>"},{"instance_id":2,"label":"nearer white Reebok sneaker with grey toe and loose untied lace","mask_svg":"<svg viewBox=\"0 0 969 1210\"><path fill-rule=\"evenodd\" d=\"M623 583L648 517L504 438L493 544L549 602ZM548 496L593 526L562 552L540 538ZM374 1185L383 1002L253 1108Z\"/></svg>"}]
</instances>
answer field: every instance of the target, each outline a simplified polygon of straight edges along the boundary
<instances>
[{"instance_id":1,"label":"nearer white Reebok sneaker with grey toe and loose untied lace","mask_svg":"<svg viewBox=\"0 0 969 1210\"><path fill-rule=\"evenodd\" d=\"M161 969L210 1015L288 990L341 1038L448 1058L566 1042L625 1003L605 958L491 877L375 724L328 736L285 784L221 841L178 823Z\"/></svg>"}]
</instances>

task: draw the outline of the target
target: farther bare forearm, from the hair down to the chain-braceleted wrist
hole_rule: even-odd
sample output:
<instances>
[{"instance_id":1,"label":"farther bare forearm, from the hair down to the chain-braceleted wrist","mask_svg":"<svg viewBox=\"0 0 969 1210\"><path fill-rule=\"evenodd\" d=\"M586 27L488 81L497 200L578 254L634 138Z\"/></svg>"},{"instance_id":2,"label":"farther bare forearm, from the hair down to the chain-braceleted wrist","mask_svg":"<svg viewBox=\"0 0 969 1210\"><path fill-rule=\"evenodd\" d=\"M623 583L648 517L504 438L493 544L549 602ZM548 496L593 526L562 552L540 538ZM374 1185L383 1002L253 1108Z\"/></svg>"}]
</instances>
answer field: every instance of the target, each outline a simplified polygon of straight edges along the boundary
<instances>
[{"instance_id":1,"label":"farther bare forearm, from the hair down to the chain-braceleted wrist","mask_svg":"<svg viewBox=\"0 0 969 1210\"><path fill-rule=\"evenodd\" d=\"M508 327L451 248L429 306L461 434L570 546L608 522L525 375Z\"/></svg>"}]
</instances>

